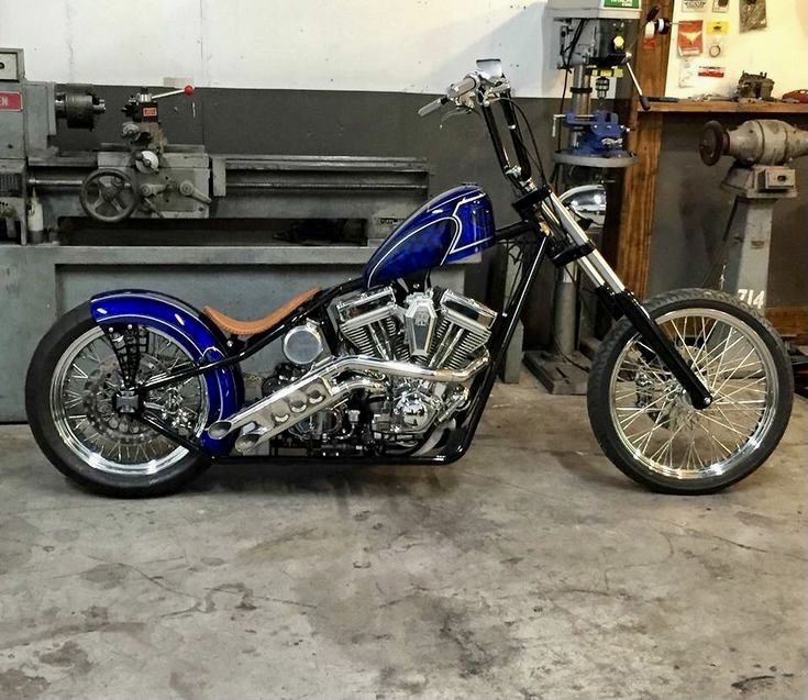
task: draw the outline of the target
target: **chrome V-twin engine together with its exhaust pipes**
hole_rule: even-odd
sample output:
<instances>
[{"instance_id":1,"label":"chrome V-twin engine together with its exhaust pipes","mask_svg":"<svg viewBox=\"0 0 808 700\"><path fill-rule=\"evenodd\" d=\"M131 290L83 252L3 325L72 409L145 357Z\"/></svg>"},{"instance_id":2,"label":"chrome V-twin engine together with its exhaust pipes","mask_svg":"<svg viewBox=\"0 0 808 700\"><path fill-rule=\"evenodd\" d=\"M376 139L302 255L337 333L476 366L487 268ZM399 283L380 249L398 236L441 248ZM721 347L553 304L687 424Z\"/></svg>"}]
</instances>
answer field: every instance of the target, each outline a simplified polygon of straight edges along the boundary
<instances>
[{"instance_id":1,"label":"chrome V-twin engine together with its exhaust pipes","mask_svg":"<svg viewBox=\"0 0 808 700\"><path fill-rule=\"evenodd\" d=\"M337 301L330 314L339 348L313 321L290 330L283 349L296 367L279 365L264 398L210 425L212 437L241 431L242 452L281 434L322 454L412 447L453 424L490 362L497 313L451 290L411 292L399 304L384 287Z\"/></svg>"}]
</instances>

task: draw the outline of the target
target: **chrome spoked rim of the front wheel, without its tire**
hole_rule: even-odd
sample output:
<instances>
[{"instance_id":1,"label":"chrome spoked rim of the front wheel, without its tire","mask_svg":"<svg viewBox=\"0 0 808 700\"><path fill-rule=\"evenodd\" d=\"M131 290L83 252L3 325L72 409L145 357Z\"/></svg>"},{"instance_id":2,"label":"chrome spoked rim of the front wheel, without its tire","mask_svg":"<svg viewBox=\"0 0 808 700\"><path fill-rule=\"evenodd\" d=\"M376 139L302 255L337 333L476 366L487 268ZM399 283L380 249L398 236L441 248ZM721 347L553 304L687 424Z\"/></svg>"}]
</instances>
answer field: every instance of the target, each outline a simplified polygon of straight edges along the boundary
<instances>
[{"instance_id":1,"label":"chrome spoked rim of the front wheel, without its tire","mask_svg":"<svg viewBox=\"0 0 808 700\"><path fill-rule=\"evenodd\" d=\"M777 405L777 374L763 338L734 315L682 309L657 320L713 401L698 411L639 336L623 347L609 385L622 446L650 471L674 479L720 477L763 442Z\"/></svg>"}]
</instances>

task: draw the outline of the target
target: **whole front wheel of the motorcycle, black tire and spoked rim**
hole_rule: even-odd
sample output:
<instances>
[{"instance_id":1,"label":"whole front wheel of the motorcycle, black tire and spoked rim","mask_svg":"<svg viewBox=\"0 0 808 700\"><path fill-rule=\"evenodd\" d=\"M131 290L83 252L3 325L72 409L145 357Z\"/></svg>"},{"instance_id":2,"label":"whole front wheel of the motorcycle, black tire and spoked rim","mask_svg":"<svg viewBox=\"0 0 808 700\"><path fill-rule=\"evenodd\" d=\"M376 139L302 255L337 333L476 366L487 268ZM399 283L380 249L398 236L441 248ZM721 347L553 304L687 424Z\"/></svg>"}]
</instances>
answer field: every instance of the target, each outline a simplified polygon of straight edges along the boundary
<instances>
[{"instance_id":1,"label":"whole front wheel of the motorcycle, black tire and spoked rim","mask_svg":"<svg viewBox=\"0 0 808 700\"><path fill-rule=\"evenodd\" d=\"M593 362L589 420L624 474L667 493L711 493L760 467L788 425L794 378L771 324L735 298L666 292L645 308L712 395L704 411L627 319Z\"/></svg>"}]
</instances>

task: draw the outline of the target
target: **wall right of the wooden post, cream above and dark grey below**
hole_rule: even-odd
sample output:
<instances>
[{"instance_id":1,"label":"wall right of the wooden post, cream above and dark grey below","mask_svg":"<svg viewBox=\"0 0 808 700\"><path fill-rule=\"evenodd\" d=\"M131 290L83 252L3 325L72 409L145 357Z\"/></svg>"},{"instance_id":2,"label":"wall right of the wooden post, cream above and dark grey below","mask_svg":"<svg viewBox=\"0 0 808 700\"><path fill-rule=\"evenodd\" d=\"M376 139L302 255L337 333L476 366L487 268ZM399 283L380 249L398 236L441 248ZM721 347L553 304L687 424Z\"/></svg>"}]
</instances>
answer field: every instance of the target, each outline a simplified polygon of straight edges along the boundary
<instances>
[{"instance_id":1,"label":"wall right of the wooden post, cream above and dark grey below","mask_svg":"<svg viewBox=\"0 0 808 700\"><path fill-rule=\"evenodd\" d=\"M707 11L684 12L683 3L674 5L674 21L726 20L730 31L718 59L705 54L695 57L696 65L720 65L726 76L695 78L694 87L679 88L679 66L676 40L678 26L672 30L666 93L679 98L702 93L731 95L738 79L748 73L764 71L775 81L774 96L798 88L808 88L808 2L806 0L768 0L767 26L740 32L739 0L730 0L727 13ZM759 115L766 118L766 115ZM649 291L674 287L699 286L713 262L722 255L722 234L732 208L733 196L720 188L731 165L723 158L708 168L698 156L698 141L705 122L718 119L727 126L737 126L755 115L679 114L665 118L660 158L658 186L655 201L654 230L651 249ZM800 129L808 129L805 115L775 115ZM794 265L808 251L808 158L796 163L797 199L778 202L773 223L767 303L772 307L808 305L808 278Z\"/></svg>"}]
</instances>

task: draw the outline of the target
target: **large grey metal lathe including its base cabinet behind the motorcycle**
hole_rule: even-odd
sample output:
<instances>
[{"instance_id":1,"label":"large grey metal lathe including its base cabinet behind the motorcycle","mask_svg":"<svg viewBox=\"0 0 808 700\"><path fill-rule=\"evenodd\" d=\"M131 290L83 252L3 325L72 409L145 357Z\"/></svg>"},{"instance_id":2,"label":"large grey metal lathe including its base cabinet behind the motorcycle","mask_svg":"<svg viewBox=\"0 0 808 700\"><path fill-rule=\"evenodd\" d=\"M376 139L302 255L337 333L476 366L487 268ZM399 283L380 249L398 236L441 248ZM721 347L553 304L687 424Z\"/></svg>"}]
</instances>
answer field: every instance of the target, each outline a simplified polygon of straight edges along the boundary
<instances>
[{"instance_id":1,"label":"large grey metal lathe including its base cabinet behind the motorcycle","mask_svg":"<svg viewBox=\"0 0 808 700\"><path fill-rule=\"evenodd\" d=\"M115 104L112 95L27 80L23 51L0 48L0 345L19 348L0 356L11 378L0 421L23 420L26 358L77 300L148 286L257 314L289 289L358 270L429 196L423 159L210 154L169 138L177 113L190 125L197 108L213 109L207 91L141 87ZM93 127L118 137L76 132ZM68 151L70 141L85 145ZM438 275L463 290L462 265ZM245 276L256 284L235 284Z\"/></svg>"}]
</instances>

